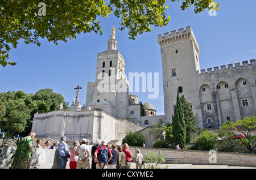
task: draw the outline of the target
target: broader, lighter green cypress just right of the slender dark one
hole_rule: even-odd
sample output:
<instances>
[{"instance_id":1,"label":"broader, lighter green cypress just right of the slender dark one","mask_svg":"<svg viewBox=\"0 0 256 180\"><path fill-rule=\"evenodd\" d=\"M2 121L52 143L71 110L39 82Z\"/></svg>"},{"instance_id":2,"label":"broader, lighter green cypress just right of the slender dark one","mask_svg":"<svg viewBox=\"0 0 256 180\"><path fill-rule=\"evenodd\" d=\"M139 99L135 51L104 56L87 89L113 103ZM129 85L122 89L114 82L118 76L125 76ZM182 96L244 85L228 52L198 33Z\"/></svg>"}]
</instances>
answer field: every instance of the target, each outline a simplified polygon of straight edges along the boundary
<instances>
[{"instance_id":1,"label":"broader, lighter green cypress just right of the slender dark one","mask_svg":"<svg viewBox=\"0 0 256 180\"><path fill-rule=\"evenodd\" d=\"M196 132L196 117L192 112L192 108L187 99L183 96L180 97L183 113L184 113L184 121L186 125L186 143L190 143L192 140L191 133Z\"/></svg>"}]
</instances>

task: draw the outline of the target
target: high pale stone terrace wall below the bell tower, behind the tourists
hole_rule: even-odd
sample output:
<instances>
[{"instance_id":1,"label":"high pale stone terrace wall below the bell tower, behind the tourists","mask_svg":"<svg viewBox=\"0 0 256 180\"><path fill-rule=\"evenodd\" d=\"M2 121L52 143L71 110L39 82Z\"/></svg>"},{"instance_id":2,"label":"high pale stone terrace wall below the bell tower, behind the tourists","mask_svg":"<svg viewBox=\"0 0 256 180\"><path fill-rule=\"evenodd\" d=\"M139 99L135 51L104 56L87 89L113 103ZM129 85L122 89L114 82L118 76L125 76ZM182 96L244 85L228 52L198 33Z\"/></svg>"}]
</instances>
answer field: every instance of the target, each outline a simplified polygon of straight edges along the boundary
<instances>
[{"instance_id":1,"label":"high pale stone terrace wall below the bell tower, behind the tourists","mask_svg":"<svg viewBox=\"0 0 256 180\"><path fill-rule=\"evenodd\" d=\"M35 114L32 131L36 139L51 138L60 140L66 136L67 141L73 142L82 138L90 142L96 139L106 141L122 139L126 133L142 130L126 119L116 119L100 110L88 111L54 111Z\"/></svg>"}]
</instances>

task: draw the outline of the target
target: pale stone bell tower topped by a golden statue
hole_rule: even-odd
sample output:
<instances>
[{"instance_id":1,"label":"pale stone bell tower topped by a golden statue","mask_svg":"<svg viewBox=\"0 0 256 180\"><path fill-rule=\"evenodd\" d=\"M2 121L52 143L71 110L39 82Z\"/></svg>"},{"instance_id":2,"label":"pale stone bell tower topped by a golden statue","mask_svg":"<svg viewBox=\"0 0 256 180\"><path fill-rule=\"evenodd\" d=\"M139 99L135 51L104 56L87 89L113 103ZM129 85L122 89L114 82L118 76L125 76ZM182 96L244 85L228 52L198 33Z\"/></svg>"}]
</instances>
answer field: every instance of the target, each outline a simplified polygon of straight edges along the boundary
<instances>
[{"instance_id":1,"label":"pale stone bell tower topped by a golden statue","mask_svg":"<svg viewBox=\"0 0 256 180\"><path fill-rule=\"evenodd\" d=\"M86 106L104 110L116 118L125 118L129 88L125 78L125 59L117 50L114 26L111 31L108 50L97 55L96 81L88 83Z\"/></svg>"}]
</instances>

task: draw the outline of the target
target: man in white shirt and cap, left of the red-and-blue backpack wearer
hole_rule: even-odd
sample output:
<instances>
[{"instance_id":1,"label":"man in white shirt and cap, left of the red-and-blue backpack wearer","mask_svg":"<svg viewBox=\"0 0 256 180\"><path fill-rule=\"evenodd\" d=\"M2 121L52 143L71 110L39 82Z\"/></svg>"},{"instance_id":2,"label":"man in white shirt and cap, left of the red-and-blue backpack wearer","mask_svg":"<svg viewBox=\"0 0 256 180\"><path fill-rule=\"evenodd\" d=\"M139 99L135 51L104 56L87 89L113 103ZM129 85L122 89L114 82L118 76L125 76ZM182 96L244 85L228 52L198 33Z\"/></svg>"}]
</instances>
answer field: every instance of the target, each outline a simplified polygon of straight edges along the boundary
<instances>
[{"instance_id":1,"label":"man in white shirt and cap, left of the red-and-blue backpack wearer","mask_svg":"<svg viewBox=\"0 0 256 180\"><path fill-rule=\"evenodd\" d=\"M82 139L82 144L77 147L75 155L77 158L77 169L87 169L88 167L88 158L90 157L90 149L86 145L86 139Z\"/></svg>"}]
</instances>

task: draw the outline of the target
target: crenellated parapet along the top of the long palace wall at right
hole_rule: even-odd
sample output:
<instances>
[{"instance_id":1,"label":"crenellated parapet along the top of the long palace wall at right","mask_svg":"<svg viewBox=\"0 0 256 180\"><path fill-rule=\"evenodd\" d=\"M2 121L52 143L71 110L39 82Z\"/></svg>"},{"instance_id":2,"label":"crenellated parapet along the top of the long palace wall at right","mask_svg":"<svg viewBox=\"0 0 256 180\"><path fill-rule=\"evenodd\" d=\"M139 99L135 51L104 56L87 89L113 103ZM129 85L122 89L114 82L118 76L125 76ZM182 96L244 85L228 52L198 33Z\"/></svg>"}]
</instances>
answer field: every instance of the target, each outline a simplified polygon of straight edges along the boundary
<instances>
[{"instance_id":1,"label":"crenellated parapet along the top of the long palace wall at right","mask_svg":"<svg viewBox=\"0 0 256 180\"><path fill-rule=\"evenodd\" d=\"M204 75L204 74L211 74L211 73L217 73L217 72L225 72L226 70L232 70L232 69L238 69L238 68L243 68L243 67L247 67L247 66L254 66L256 65L255 63L255 59L251 59L250 60L250 64L248 63L248 61L242 61L242 66L240 62L233 63L232 64L228 64L228 67L226 65L222 65L220 67L213 67L212 68L207 68L207 71L205 71L205 69L201 70L200 75Z\"/></svg>"}]
</instances>

